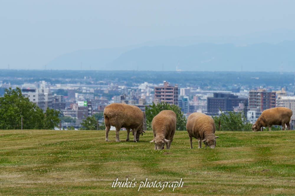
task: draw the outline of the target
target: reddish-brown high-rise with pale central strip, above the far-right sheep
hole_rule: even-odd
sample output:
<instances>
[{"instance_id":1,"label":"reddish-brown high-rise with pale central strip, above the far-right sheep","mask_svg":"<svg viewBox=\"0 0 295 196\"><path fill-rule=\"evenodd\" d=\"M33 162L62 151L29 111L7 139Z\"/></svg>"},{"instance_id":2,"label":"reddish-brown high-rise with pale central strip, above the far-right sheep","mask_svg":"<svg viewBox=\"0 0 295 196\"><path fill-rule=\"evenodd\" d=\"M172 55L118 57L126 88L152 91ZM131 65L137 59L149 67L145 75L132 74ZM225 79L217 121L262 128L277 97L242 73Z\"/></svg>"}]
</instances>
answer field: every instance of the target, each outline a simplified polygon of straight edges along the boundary
<instances>
[{"instance_id":1,"label":"reddish-brown high-rise with pale central strip, above the far-right sheep","mask_svg":"<svg viewBox=\"0 0 295 196\"><path fill-rule=\"evenodd\" d=\"M263 110L276 107L276 92L266 91L265 89L249 91L248 108L258 108Z\"/></svg>"}]
</instances>

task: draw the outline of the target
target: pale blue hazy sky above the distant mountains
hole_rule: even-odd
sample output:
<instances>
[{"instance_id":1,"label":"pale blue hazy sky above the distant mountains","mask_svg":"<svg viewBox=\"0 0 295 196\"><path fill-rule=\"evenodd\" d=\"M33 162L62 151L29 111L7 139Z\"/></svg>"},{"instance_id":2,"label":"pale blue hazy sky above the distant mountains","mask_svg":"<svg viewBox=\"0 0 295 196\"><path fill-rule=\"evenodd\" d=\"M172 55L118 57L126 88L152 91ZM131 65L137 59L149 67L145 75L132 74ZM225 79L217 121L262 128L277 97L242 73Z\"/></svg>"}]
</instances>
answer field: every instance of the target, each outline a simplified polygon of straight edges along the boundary
<instances>
[{"instance_id":1,"label":"pale blue hazy sky above the distant mountains","mask_svg":"<svg viewBox=\"0 0 295 196\"><path fill-rule=\"evenodd\" d=\"M295 30L295 1L4 1L0 68L44 68L82 49L182 36L240 36Z\"/></svg>"}]
</instances>

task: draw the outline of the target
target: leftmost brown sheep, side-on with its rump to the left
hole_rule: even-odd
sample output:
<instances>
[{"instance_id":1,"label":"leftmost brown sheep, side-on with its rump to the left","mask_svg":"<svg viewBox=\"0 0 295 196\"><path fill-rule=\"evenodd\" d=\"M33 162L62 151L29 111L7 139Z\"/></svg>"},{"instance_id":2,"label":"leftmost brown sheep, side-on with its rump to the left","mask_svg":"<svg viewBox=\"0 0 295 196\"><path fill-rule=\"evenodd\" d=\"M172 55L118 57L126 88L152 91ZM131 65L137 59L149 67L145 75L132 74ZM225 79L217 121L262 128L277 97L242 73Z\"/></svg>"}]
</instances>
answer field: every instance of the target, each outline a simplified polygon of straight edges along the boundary
<instances>
[{"instance_id":1,"label":"leftmost brown sheep, side-on with its rump to the left","mask_svg":"<svg viewBox=\"0 0 295 196\"><path fill-rule=\"evenodd\" d=\"M108 134L111 126L116 127L116 142L119 140L119 131L122 127L127 130L126 141L129 141L130 129L134 135L134 142L139 140L145 122L144 113L135 105L126 103L111 103L104 108L104 124L106 126L106 139L109 141Z\"/></svg>"}]
</instances>

